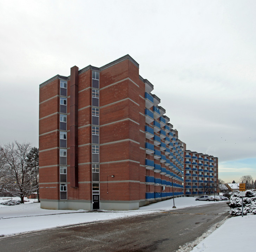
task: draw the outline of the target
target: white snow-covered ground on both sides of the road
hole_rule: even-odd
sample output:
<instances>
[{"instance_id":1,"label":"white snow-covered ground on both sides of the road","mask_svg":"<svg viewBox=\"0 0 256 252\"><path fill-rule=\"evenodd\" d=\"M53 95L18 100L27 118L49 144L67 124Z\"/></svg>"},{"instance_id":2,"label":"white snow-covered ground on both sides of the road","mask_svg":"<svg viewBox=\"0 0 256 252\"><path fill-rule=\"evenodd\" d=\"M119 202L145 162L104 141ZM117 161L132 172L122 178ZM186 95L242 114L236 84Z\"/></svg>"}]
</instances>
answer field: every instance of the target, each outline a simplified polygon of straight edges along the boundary
<instances>
[{"instance_id":1,"label":"white snow-covered ground on both sides of the road","mask_svg":"<svg viewBox=\"0 0 256 252\"><path fill-rule=\"evenodd\" d=\"M6 201L6 199L0 198L0 203L3 201ZM172 199L140 207L139 210L103 212L47 210L41 209L40 204L33 201L28 200L25 204L14 206L0 205L0 236L58 226L145 215L163 210L175 211L175 209L172 209ZM175 198L177 209L202 204L219 204L219 202L195 201L193 197ZM256 246L256 240L254 239L256 215L232 217L221 224L217 225L219 226L217 229L216 225L214 225L211 230L193 243L180 247L178 252L241 252L241 250L246 249L251 251Z\"/></svg>"}]
</instances>

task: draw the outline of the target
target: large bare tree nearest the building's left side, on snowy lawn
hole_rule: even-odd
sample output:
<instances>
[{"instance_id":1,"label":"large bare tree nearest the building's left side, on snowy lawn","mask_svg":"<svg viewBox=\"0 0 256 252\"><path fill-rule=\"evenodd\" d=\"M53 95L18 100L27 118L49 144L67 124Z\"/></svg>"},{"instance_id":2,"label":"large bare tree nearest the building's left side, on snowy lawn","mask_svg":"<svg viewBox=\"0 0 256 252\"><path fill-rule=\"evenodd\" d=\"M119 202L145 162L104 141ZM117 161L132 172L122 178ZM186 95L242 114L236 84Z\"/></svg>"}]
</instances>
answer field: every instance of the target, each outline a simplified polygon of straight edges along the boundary
<instances>
[{"instance_id":1,"label":"large bare tree nearest the building's left side, on snowy lawn","mask_svg":"<svg viewBox=\"0 0 256 252\"><path fill-rule=\"evenodd\" d=\"M13 196L20 197L21 203L24 203L24 197L35 189L35 186L31 183L31 170L26 165L30 149L29 143L20 144L17 141L6 144L3 148L6 169L9 172L8 186L5 186L4 190Z\"/></svg>"}]
</instances>

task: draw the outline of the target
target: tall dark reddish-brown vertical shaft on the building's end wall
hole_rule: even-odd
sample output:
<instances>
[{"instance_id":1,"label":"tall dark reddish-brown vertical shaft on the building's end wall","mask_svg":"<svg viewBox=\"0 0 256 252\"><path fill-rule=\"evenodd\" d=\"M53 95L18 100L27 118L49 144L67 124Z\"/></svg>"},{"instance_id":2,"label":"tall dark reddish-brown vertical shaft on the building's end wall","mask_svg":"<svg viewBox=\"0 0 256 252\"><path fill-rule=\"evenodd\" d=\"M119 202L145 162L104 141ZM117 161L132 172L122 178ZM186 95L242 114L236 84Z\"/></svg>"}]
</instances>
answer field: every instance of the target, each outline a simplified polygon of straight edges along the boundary
<instances>
[{"instance_id":1,"label":"tall dark reddish-brown vertical shaft on the building's end wall","mask_svg":"<svg viewBox=\"0 0 256 252\"><path fill-rule=\"evenodd\" d=\"M70 72L70 187L78 187L78 67Z\"/></svg>"}]
</instances>

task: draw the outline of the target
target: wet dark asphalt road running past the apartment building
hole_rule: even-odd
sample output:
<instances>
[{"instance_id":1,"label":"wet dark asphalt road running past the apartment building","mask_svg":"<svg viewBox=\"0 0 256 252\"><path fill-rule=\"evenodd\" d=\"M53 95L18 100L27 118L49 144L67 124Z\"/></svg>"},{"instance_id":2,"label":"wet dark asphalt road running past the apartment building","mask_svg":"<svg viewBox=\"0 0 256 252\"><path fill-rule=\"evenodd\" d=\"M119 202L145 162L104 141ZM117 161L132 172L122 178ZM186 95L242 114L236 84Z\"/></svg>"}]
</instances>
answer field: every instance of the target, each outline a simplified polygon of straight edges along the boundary
<instances>
[{"instance_id":1,"label":"wet dark asphalt road running past the apartment building","mask_svg":"<svg viewBox=\"0 0 256 252\"><path fill-rule=\"evenodd\" d=\"M174 252L228 216L226 202L30 232L0 239L1 252Z\"/></svg>"}]
</instances>

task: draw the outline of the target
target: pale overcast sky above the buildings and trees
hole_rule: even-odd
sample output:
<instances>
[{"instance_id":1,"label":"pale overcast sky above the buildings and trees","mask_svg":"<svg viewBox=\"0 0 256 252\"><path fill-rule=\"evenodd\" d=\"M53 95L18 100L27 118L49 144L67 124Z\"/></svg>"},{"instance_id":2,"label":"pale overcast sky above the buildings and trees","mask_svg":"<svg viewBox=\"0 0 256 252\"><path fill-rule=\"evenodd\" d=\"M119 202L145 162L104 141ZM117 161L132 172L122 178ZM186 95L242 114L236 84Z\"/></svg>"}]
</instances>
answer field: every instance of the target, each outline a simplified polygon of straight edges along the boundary
<instances>
[{"instance_id":1,"label":"pale overcast sky above the buildings and trees","mask_svg":"<svg viewBox=\"0 0 256 252\"><path fill-rule=\"evenodd\" d=\"M187 149L256 179L256 1L0 0L0 144L38 147L39 84L129 54Z\"/></svg>"}]
</instances>

